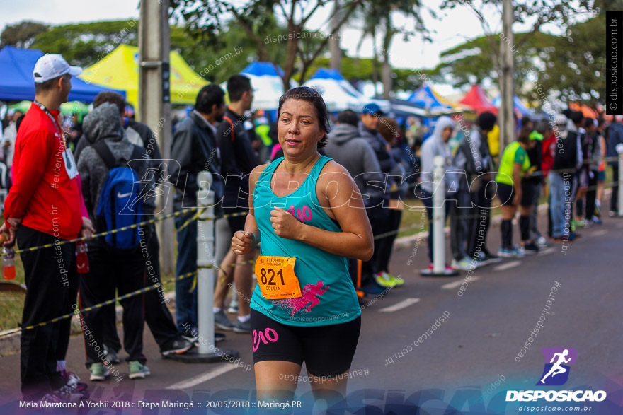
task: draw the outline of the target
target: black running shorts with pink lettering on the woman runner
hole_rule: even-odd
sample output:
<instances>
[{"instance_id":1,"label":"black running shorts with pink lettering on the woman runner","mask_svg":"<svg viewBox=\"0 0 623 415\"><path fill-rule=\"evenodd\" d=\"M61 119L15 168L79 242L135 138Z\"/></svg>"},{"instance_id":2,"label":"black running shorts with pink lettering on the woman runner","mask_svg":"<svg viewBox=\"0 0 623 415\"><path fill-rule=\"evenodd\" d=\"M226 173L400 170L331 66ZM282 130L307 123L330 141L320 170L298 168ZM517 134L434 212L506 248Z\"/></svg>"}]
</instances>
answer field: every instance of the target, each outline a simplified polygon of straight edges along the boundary
<instances>
[{"instance_id":1,"label":"black running shorts with pink lettering on the woman runner","mask_svg":"<svg viewBox=\"0 0 623 415\"><path fill-rule=\"evenodd\" d=\"M314 376L336 376L350 369L359 341L361 316L338 325L299 327L251 309L253 363L286 361L302 365Z\"/></svg>"}]
</instances>

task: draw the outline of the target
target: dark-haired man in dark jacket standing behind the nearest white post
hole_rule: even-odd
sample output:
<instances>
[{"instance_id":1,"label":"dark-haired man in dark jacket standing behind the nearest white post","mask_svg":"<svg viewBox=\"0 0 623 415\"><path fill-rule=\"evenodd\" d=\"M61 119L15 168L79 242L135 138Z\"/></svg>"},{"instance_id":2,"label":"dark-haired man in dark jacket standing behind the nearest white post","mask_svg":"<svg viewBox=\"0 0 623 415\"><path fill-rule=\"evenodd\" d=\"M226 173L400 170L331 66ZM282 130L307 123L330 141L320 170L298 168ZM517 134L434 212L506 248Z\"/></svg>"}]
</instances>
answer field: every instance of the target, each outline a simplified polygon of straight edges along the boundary
<instances>
[{"instance_id":1,"label":"dark-haired man in dark jacket standing behind the nearest white post","mask_svg":"<svg viewBox=\"0 0 623 415\"><path fill-rule=\"evenodd\" d=\"M219 174L221 158L214 124L222 121L224 112L225 93L217 84L211 83L201 88L195 109L178 124L171 143L171 158L177 160L179 165L173 163L168 170L171 177L179 177L173 197L174 211L197 206L198 172L209 171L212 173L210 189L215 192L215 214L220 213L219 201L223 197L224 180ZM191 211L174 219L178 230L176 276L197 270L197 221L181 228L194 215L195 212ZM176 321L182 335L187 333L184 325L190 325L193 328L191 332L198 325L197 290L191 289L193 282L192 278L176 280ZM188 338L195 340L192 336Z\"/></svg>"}]
</instances>

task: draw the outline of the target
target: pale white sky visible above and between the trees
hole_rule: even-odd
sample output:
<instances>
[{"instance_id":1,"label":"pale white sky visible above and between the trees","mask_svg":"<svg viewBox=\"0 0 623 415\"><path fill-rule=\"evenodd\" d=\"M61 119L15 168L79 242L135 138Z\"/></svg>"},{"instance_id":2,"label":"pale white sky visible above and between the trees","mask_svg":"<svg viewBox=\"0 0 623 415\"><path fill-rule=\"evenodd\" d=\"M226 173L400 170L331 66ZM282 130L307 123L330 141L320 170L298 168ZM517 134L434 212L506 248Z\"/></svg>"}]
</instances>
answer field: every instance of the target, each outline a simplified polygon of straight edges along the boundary
<instances>
[{"instance_id":1,"label":"pale white sky visible above and between the trees","mask_svg":"<svg viewBox=\"0 0 623 415\"><path fill-rule=\"evenodd\" d=\"M155 0L154 0L155 1ZM236 1L237 3L238 1ZM484 34L479 18L468 6L457 6L453 10L440 11L442 0L423 0L425 6L437 11L438 19L433 19L428 12L424 12L425 25L430 29L433 42L424 42L421 36L415 35L404 40L401 35L394 36L389 48L389 59L392 66L406 69L431 69L440 62L440 53L451 47L460 45L469 39ZM48 24L67 24L89 21L122 20L138 18L137 0L106 0L106 1L75 1L75 0L0 0L0 30L8 24L23 20L38 21ZM306 29L326 30L326 22L331 16L332 6L319 8L310 19ZM498 11L491 8L484 11L484 18L491 25L493 31L501 30L501 17ZM413 28L412 21L402 16L396 16L394 24ZM367 38L357 51L361 31L355 27L356 23L343 27L341 33L341 47L349 56L372 57L374 45ZM515 32L526 30L527 25L515 23ZM544 28L550 33L556 33L557 28ZM379 49L377 45L377 49ZM439 86L438 92L443 94L457 93L450 86Z\"/></svg>"}]
</instances>

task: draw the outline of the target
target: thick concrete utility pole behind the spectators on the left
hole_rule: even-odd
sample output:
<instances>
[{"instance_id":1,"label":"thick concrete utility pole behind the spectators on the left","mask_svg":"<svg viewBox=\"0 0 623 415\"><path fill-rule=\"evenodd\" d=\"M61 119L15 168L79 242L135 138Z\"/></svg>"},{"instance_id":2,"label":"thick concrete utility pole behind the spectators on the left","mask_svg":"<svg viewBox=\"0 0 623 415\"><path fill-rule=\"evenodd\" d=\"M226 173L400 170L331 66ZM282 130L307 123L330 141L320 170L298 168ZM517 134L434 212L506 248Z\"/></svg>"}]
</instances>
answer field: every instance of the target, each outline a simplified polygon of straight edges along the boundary
<instances>
[{"instance_id":1,"label":"thick concrete utility pole behind the spectators on the left","mask_svg":"<svg viewBox=\"0 0 623 415\"><path fill-rule=\"evenodd\" d=\"M139 18L137 120L152 129L164 159L168 159L171 154L169 2L170 0L141 1ZM173 212L172 201L168 203L162 197L157 197L156 204L156 211L161 214ZM166 274L173 270L173 221L156 223L156 230L160 240L160 268Z\"/></svg>"}]
</instances>

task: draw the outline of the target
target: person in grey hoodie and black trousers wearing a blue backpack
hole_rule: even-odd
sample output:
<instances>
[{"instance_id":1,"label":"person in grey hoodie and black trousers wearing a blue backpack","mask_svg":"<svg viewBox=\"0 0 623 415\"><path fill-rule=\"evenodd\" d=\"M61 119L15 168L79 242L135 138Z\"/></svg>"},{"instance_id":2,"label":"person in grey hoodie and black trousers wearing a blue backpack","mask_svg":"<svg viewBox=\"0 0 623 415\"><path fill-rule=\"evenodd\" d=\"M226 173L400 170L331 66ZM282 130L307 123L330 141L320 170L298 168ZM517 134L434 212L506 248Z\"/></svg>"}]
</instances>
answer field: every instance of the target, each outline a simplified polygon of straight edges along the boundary
<instances>
[{"instance_id":1,"label":"person in grey hoodie and black trousers wearing a blue backpack","mask_svg":"<svg viewBox=\"0 0 623 415\"><path fill-rule=\"evenodd\" d=\"M131 167L136 170L138 177L144 177L149 168L149 156L142 148L131 144L121 127L121 117L117 105L104 103L87 115L83 123L84 134L93 141L93 146L103 141L118 166L134 159ZM82 178L82 192L84 204L95 224L96 232L105 230L96 220L96 211L103 185L108 177L108 166L104 163L98 151L93 146L84 148L78 162L78 171ZM138 148L139 150L135 150ZM135 156L140 154L140 158ZM153 180L147 188L153 187ZM146 214L154 211L154 197L145 198L143 211ZM147 229L143 230L142 239L149 239ZM140 231L139 231L140 235ZM145 262L142 257L141 245L133 249L120 250L110 247L103 238L88 242L88 259L90 271L81 274L80 298L83 307L102 303L118 295L139 290L145 286ZM125 351L130 355L130 378L144 378L149 375L149 369L144 366L147 360L142 353L143 349L143 296L132 296L121 300L123 307L123 343ZM91 380L105 380L108 370L103 365L101 353L97 348L103 344L103 320L108 317L103 308L96 308L84 313L86 366L91 372ZM90 334L86 334L86 327Z\"/></svg>"}]
</instances>

